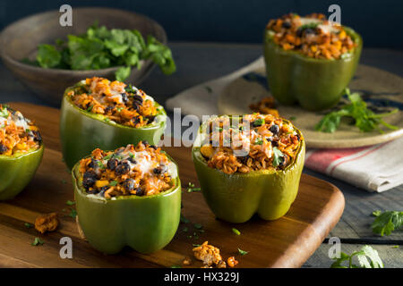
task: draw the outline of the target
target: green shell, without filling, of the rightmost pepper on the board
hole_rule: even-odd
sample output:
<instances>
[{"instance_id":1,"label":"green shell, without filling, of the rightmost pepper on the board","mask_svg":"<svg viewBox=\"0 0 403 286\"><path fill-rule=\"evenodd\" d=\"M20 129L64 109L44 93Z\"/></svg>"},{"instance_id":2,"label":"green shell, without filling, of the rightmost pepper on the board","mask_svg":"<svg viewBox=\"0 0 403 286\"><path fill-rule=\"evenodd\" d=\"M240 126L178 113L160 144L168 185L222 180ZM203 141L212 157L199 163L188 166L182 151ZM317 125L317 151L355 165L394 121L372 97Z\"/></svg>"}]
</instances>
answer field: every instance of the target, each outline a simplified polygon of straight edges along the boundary
<instances>
[{"instance_id":1,"label":"green shell, without filling, of the rightmost pepper on the board","mask_svg":"<svg viewBox=\"0 0 403 286\"><path fill-rule=\"evenodd\" d=\"M296 158L284 170L227 174L210 168L201 155L201 130L205 124L201 125L192 156L202 195L211 211L229 223L244 223L256 213L264 220L276 220L286 214L296 198L304 167L305 143L301 132L296 130L301 138Z\"/></svg>"}]
</instances>

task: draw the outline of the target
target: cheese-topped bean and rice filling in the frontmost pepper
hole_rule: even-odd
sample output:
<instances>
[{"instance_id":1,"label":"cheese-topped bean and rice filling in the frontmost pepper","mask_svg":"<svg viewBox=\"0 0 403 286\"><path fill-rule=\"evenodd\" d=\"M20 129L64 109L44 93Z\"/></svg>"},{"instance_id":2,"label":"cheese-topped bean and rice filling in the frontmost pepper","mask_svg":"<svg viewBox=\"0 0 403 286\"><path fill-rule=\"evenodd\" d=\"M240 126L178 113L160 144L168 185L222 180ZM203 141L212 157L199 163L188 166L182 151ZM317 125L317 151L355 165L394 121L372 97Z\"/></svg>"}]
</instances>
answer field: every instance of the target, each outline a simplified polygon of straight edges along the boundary
<instances>
[{"instance_id":1,"label":"cheese-topped bean and rice filling in the frontmost pepper","mask_svg":"<svg viewBox=\"0 0 403 286\"><path fill-rule=\"evenodd\" d=\"M140 142L137 146L102 151L80 162L82 186L89 195L102 198L156 195L175 185L171 163L159 147Z\"/></svg>"}]
</instances>

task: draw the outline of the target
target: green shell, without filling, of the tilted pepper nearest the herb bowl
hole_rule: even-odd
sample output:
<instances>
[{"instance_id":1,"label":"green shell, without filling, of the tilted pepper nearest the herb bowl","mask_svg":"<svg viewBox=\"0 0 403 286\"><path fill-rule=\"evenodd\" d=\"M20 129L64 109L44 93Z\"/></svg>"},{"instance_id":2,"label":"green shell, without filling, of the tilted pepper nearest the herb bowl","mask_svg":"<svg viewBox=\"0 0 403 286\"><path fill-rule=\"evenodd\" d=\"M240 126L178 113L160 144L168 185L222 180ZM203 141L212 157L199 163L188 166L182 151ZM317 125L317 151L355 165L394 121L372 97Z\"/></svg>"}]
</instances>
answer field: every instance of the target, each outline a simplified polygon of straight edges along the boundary
<instances>
[{"instance_id":1,"label":"green shell, without filling, of the tilted pepper nearest the herb bowl","mask_svg":"<svg viewBox=\"0 0 403 286\"><path fill-rule=\"evenodd\" d=\"M141 140L148 141L150 145L159 144L165 130L167 114L158 103L155 103L159 108L155 121L141 128L133 128L107 122L104 115L92 114L77 107L67 96L72 88L67 88L64 92L60 115L63 157L70 170L83 156L97 147L109 150L127 144L136 145Z\"/></svg>"}]
</instances>

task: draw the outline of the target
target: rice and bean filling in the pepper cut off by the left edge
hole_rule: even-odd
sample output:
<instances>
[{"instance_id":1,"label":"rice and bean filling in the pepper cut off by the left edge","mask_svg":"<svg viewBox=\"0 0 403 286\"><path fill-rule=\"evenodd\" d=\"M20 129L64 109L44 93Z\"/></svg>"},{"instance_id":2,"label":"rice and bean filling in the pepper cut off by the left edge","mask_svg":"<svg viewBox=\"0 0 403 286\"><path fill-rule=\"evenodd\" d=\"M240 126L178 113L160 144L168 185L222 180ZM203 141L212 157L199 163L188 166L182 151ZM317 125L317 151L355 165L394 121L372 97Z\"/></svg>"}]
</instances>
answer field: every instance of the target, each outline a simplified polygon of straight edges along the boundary
<instances>
[{"instance_id":1,"label":"rice and bean filling in the pepper cut off by the left edge","mask_svg":"<svg viewBox=\"0 0 403 286\"><path fill-rule=\"evenodd\" d=\"M34 122L7 105L0 105L0 155L25 154L40 147L42 138Z\"/></svg>"}]
</instances>

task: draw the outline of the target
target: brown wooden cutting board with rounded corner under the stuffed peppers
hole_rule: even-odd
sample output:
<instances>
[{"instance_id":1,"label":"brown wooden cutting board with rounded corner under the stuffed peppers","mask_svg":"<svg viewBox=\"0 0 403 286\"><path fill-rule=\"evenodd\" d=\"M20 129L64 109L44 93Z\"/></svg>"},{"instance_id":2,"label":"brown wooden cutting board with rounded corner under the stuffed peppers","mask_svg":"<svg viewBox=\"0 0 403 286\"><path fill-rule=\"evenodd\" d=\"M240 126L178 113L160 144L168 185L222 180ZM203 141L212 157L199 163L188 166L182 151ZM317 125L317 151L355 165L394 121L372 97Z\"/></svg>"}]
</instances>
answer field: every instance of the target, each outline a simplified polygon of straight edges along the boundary
<instances>
[{"instance_id":1,"label":"brown wooden cutting board with rounded corner under the stuffed peppers","mask_svg":"<svg viewBox=\"0 0 403 286\"><path fill-rule=\"evenodd\" d=\"M237 267L299 267L320 246L343 213L344 197L339 189L303 174L296 201L279 220L266 222L253 218L241 224L221 222L210 212L201 193L188 193L185 188L188 182L199 185L190 148L165 147L179 164L184 186L182 213L190 223L180 223L174 240L151 255L141 255L127 248L119 255L107 256L81 239L75 220L68 215L71 206L67 206L66 201L73 200L73 186L60 152L59 110L25 103L10 105L37 122L46 149L30 185L13 200L0 202L0 266L170 267L182 265L186 256L193 257L193 244L209 240L221 249L223 258L235 256L239 261ZM39 214L51 212L57 212L61 221L54 232L39 235L34 228L24 225L34 223ZM204 232L197 231L193 223L201 223ZM241 231L241 235L231 231L233 227ZM73 240L72 259L59 256L62 247L59 240L65 236ZM45 243L31 246L35 237ZM240 256L238 248L248 254ZM193 259L192 266L201 267L201 262Z\"/></svg>"}]
</instances>

